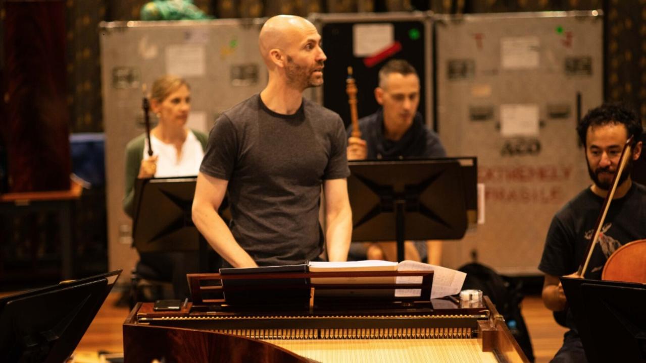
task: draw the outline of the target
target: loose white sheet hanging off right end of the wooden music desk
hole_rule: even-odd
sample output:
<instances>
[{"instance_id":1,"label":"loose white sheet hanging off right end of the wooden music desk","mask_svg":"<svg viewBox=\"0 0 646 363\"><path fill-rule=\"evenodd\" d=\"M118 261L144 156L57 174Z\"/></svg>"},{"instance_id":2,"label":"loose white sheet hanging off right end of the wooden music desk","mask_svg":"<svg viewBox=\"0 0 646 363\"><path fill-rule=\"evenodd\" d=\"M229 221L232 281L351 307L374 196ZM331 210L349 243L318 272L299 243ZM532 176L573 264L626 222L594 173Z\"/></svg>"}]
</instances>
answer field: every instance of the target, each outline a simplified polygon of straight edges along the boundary
<instances>
[{"instance_id":1,"label":"loose white sheet hanging off right end of the wooden music desk","mask_svg":"<svg viewBox=\"0 0 646 363\"><path fill-rule=\"evenodd\" d=\"M460 292L466 273L423 262L405 260L399 262L397 271L433 271L431 299L438 299ZM421 284L421 276L397 277L397 284ZM415 297L422 294L421 289L397 289L395 297Z\"/></svg>"}]
</instances>

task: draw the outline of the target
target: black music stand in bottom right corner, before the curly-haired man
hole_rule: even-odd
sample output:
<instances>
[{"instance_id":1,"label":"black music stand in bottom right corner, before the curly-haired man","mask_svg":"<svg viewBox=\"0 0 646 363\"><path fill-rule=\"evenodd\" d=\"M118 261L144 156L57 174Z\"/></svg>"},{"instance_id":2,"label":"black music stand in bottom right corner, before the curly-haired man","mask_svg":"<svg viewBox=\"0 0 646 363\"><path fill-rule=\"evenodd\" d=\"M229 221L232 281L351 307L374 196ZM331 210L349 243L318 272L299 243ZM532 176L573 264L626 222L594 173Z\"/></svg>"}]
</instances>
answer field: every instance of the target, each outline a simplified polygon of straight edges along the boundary
<instances>
[{"instance_id":1,"label":"black music stand in bottom right corner, before the curly-haired man","mask_svg":"<svg viewBox=\"0 0 646 363\"><path fill-rule=\"evenodd\" d=\"M561 277L588 360L646 362L646 286Z\"/></svg>"}]
</instances>

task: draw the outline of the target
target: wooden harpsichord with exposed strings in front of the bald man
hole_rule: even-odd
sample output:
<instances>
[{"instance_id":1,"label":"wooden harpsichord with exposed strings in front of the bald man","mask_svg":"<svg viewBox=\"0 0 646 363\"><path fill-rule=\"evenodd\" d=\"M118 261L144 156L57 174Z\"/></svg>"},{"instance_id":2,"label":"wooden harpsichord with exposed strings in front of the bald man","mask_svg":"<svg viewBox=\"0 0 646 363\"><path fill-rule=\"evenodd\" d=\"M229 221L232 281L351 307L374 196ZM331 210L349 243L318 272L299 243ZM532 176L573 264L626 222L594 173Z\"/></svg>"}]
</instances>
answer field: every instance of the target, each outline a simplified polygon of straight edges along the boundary
<instances>
[{"instance_id":1,"label":"wooden harpsichord with exposed strings in front of the bald man","mask_svg":"<svg viewBox=\"0 0 646 363\"><path fill-rule=\"evenodd\" d=\"M125 362L528 362L488 297L430 299L432 271L187 278L179 310L132 309Z\"/></svg>"}]
</instances>

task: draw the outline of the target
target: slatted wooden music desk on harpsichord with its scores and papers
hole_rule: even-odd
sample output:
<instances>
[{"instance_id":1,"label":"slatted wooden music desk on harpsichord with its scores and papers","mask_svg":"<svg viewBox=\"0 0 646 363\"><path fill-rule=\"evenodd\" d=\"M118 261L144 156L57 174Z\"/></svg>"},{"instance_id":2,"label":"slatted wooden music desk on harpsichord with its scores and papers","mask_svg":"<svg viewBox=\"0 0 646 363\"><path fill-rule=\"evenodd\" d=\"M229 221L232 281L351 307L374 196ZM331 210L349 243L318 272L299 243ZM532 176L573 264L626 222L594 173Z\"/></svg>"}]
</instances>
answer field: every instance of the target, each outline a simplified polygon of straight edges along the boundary
<instances>
[{"instance_id":1,"label":"slatted wooden music desk on harpsichord with its scores and papers","mask_svg":"<svg viewBox=\"0 0 646 363\"><path fill-rule=\"evenodd\" d=\"M312 306L340 300L361 303L437 299L459 293L466 275L415 261L309 262L258 268L223 268L189 275L194 302Z\"/></svg>"}]
</instances>

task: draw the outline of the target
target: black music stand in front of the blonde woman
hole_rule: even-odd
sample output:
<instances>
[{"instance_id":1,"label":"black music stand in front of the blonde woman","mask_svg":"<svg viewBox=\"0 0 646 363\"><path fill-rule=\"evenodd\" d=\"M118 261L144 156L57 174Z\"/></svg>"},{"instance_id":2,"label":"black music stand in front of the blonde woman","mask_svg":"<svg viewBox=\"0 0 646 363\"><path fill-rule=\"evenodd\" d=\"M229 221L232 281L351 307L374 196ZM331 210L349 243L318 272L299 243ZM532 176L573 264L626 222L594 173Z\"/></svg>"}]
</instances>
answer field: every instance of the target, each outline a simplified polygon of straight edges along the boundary
<instances>
[{"instance_id":1,"label":"black music stand in front of the blonde woman","mask_svg":"<svg viewBox=\"0 0 646 363\"><path fill-rule=\"evenodd\" d=\"M138 179L134 189L132 244L140 252L198 251L200 272L208 272L210 248L191 216L196 180L196 177Z\"/></svg>"}]
</instances>

